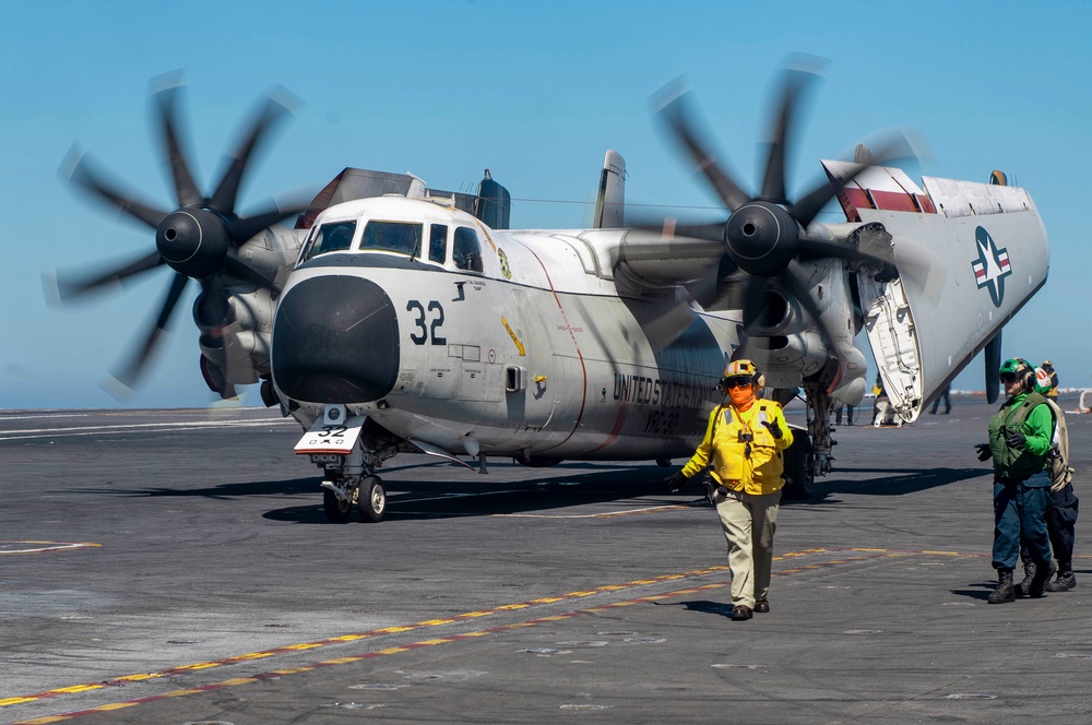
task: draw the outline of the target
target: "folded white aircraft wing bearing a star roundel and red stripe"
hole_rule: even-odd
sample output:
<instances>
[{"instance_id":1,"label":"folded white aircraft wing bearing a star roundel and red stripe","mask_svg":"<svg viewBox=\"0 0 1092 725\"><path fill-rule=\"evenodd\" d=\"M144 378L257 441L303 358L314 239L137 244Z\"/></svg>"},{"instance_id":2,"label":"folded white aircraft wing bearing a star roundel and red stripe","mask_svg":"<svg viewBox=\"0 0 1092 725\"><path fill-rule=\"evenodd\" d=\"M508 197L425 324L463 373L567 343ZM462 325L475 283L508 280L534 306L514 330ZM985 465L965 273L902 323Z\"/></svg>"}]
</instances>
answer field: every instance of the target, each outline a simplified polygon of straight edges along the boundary
<instances>
[{"instance_id":1,"label":"folded white aircraft wing bearing a star roundel and red stripe","mask_svg":"<svg viewBox=\"0 0 1092 725\"><path fill-rule=\"evenodd\" d=\"M824 161L828 176L843 162ZM865 328L900 415L922 408L1046 282L1046 229L1021 188L934 177L918 187L873 167L839 194L862 222L860 250L891 259L899 277L857 275Z\"/></svg>"}]
</instances>

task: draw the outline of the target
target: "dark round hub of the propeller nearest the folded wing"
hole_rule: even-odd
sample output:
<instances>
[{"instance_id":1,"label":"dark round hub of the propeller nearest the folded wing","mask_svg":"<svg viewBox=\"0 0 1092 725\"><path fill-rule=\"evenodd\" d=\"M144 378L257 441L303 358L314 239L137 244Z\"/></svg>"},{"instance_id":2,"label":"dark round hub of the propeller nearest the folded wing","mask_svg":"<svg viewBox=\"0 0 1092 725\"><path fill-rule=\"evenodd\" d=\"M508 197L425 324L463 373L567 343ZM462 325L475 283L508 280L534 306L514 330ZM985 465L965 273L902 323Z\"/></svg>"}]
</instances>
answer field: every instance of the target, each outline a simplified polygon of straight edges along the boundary
<instances>
[{"instance_id":1,"label":"dark round hub of the propeller nearest the folded wing","mask_svg":"<svg viewBox=\"0 0 1092 725\"><path fill-rule=\"evenodd\" d=\"M728 255L749 274L773 276L799 249L799 225L784 209L751 201L737 209L724 228Z\"/></svg>"}]
</instances>

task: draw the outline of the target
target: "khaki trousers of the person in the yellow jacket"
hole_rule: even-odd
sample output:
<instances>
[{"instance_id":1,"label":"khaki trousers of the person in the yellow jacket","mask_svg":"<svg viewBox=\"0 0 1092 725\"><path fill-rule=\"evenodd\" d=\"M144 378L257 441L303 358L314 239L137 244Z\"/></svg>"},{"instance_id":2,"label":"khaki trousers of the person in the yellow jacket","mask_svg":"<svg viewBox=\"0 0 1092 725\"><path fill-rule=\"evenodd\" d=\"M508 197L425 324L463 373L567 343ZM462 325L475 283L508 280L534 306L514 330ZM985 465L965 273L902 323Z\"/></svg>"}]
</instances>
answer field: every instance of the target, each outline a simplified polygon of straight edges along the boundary
<instances>
[{"instance_id":1,"label":"khaki trousers of the person in the yellow jacket","mask_svg":"<svg viewBox=\"0 0 1092 725\"><path fill-rule=\"evenodd\" d=\"M720 498L720 497L717 497ZM770 593L773 533L778 528L781 491L756 496L729 490L717 501L732 568L732 605L755 608Z\"/></svg>"}]
</instances>

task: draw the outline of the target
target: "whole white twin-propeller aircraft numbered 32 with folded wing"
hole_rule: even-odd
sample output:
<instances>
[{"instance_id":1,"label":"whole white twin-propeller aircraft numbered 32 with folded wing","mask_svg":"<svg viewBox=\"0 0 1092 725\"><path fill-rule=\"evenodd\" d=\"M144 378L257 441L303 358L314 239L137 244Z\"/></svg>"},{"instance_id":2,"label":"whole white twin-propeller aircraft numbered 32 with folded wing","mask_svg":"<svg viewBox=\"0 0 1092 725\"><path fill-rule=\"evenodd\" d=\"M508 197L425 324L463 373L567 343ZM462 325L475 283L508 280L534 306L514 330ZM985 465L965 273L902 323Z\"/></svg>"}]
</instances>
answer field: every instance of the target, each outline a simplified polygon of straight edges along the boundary
<instances>
[{"instance_id":1,"label":"whole white twin-propeller aircraft numbered 32 with folded wing","mask_svg":"<svg viewBox=\"0 0 1092 725\"><path fill-rule=\"evenodd\" d=\"M918 186L886 165L898 144L822 162L823 183L788 200L786 146L812 76L785 78L757 195L714 158L687 96L660 111L724 221L625 226L625 164L608 152L593 228L520 231L507 228L510 198L488 174L467 197L346 169L309 204L241 218L239 183L283 106L265 106L206 198L178 141L175 94L161 92L179 209L156 210L81 159L73 180L155 228L156 250L56 289L68 299L175 271L156 325L116 376L129 385L198 280L206 382L228 397L261 381L266 404L299 421L296 453L322 468L334 522L354 509L383 518L378 473L399 452L470 456L483 472L487 456L529 466L689 456L733 356L759 364L774 399L803 391L806 433L788 451L785 490L807 498L831 471L830 413L866 390L856 333L867 331L892 405L913 421L983 348L992 381L1000 330L1045 283L1048 253L1026 191ZM816 222L834 199L846 222ZM278 224L297 215L295 228ZM996 396L996 383L987 391Z\"/></svg>"}]
</instances>

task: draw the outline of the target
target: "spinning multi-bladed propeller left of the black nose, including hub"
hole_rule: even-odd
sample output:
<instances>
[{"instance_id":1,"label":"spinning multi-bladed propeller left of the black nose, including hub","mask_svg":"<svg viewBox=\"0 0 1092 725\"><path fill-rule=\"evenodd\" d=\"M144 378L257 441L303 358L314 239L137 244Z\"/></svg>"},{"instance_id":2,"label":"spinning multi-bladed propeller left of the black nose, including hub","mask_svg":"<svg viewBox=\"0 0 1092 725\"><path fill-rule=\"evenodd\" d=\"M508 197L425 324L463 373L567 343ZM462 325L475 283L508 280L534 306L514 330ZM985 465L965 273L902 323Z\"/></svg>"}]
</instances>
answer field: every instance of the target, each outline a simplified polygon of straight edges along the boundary
<instances>
[{"instance_id":1,"label":"spinning multi-bladed propeller left of the black nose, including hub","mask_svg":"<svg viewBox=\"0 0 1092 725\"><path fill-rule=\"evenodd\" d=\"M60 302L78 299L87 293L109 286L124 286L139 275L161 266L174 271L167 294L152 326L139 335L130 359L118 367L111 377L121 385L120 392L131 391L144 366L155 349L186 284L197 280L202 289L194 305L194 318L210 329L230 324L232 307L225 282L234 280L252 283L276 293L275 282L266 273L254 269L239 258L237 250L248 239L270 226L306 210L306 205L281 209L276 205L251 216L236 213L236 201L244 177L254 151L269 136L273 127L290 108L270 95L261 105L247 132L230 155L230 163L215 186L211 197L202 195L193 181L188 154L179 138L177 85L153 95L162 135L163 153L170 169L178 207L165 211L146 203L136 194L111 182L87 156L71 153L69 179L76 188L95 200L118 210L155 230L155 249L129 263L85 277L54 280L54 293ZM223 349L223 340L211 342L210 347ZM211 360L224 368L225 359ZM221 383L224 397L234 396L230 383ZM112 388L112 385L111 385Z\"/></svg>"}]
</instances>

